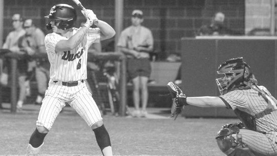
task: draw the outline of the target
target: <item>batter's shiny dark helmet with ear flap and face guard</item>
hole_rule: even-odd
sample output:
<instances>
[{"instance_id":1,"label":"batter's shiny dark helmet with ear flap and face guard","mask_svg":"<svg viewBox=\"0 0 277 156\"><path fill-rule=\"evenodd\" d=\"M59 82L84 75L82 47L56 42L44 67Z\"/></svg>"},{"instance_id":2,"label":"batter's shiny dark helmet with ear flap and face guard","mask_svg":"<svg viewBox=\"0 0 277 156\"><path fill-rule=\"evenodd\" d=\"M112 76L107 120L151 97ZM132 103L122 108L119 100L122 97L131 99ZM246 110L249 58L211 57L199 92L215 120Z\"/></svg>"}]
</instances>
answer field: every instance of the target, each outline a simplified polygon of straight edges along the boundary
<instances>
[{"instance_id":1,"label":"batter's shiny dark helmet with ear flap and face guard","mask_svg":"<svg viewBox=\"0 0 277 156\"><path fill-rule=\"evenodd\" d=\"M66 30L73 27L73 24L77 19L77 14L76 10L72 6L67 4L57 4L50 9L49 15L45 17L61 21L57 28ZM46 27L48 30L52 29L50 23L47 24Z\"/></svg>"}]
</instances>

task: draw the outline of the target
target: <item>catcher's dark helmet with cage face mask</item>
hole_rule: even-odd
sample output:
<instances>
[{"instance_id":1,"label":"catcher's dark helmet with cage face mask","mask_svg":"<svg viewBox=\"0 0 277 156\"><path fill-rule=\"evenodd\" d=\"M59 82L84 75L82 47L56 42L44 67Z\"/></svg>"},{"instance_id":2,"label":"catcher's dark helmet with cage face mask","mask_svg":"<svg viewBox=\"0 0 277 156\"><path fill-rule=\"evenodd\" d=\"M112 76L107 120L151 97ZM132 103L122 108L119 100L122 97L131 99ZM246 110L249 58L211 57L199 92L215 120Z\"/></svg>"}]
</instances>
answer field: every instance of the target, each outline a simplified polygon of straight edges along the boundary
<instances>
[{"instance_id":1,"label":"catcher's dark helmet with cage face mask","mask_svg":"<svg viewBox=\"0 0 277 156\"><path fill-rule=\"evenodd\" d=\"M250 67L243 61L243 57L230 59L219 66L217 74L224 74L224 77L216 79L217 87L223 95L232 89L245 86L252 78Z\"/></svg>"}]
</instances>

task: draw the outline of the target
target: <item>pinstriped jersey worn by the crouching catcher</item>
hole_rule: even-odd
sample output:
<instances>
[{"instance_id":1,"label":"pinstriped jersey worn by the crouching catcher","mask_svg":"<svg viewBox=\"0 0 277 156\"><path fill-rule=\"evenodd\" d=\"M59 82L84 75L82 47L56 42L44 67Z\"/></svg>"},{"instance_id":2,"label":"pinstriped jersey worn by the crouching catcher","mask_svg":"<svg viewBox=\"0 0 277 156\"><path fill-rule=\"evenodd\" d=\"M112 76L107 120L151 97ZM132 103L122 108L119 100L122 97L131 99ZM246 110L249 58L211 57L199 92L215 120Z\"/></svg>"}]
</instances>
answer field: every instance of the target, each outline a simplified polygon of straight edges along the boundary
<instances>
[{"instance_id":1,"label":"pinstriped jersey worn by the crouching catcher","mask_svg":"<svg viewBox=\"0 0 277 156\"><path fill-rule=\"evenodd\" d=\"M258 86L260 89L264 90L269 97L271 97L273 104L276 105L276 99L269 93L269 91L264 86ZM227 107L231 107L233 110L238 108L239 110L245 111L251 115L258 114L265 110L268 103L259 94L258 91L253 89L244 90L233 90L221 97L229 104ZM256 128L258 131L277 131L277 111L273 111L270 114L263 116L262 118L255 119Z\"/></svg>"}]
</instances>

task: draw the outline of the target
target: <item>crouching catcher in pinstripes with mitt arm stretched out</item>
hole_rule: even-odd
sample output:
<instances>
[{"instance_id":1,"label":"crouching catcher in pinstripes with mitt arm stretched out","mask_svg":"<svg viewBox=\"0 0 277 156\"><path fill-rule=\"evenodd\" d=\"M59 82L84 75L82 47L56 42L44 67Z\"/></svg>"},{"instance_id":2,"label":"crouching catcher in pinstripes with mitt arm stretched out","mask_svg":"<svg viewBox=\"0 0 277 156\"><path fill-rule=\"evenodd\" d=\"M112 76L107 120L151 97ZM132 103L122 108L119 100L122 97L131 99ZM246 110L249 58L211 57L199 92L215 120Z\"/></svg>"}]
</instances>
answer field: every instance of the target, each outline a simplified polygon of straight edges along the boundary
<instances>
[{"instance_id":1,"label":"crouching catcher in pinstripes with mitt arm stretched out","mask_svg":"<svg viewBox=\"0 0 277 156\"><path fill-rule=\"evenodd\" d=\"M240 122L225 124L215 137L226 155L277 155L277 101L264 86L258 86L243 57L222 63L216 79L220 96L187 97L168 83L173 98L171 117L186 105L231 108Z\"/></svg>"}]
</instances>

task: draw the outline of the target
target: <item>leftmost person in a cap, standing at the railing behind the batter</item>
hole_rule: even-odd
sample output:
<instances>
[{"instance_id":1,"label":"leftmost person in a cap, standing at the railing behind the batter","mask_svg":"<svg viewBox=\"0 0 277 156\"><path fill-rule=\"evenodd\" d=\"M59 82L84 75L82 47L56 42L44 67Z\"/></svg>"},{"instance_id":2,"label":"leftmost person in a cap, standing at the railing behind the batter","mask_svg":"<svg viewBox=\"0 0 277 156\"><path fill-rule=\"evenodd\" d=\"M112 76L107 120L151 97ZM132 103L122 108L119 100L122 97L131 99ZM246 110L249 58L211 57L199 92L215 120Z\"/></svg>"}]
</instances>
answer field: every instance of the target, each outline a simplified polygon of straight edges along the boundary
<instances>
[{"instance_id":1,"label":"leftmost person in a cap, standing at the railing behind the batter","mask_svg":"<svg viewBox=\"0 0 277 156\"><path fill-rule=\"evenodd\" d=\"M14 14L12 16L12 26L14 30L8 34L6 41L3 45L3 49L9 49L14 53L24 55L25 53L21 51L18 47L19 37L25 34L25 30L23 29L23 18L20 14ZM27 60L24 57L21 57L21 59L18 59L17 66L18 66L17 74L18 74L18 85L19 85L19 98L17 101L16 108L17 108L17 111L20 111L22 109L22 105L26 97L25 80L26 80L26 72L28 67ZM7 65L7 62L5 61L4 62L5 69L3 69L3 72L7 72L7 67L8 65Z\"/></svg>"}]
</instances>

